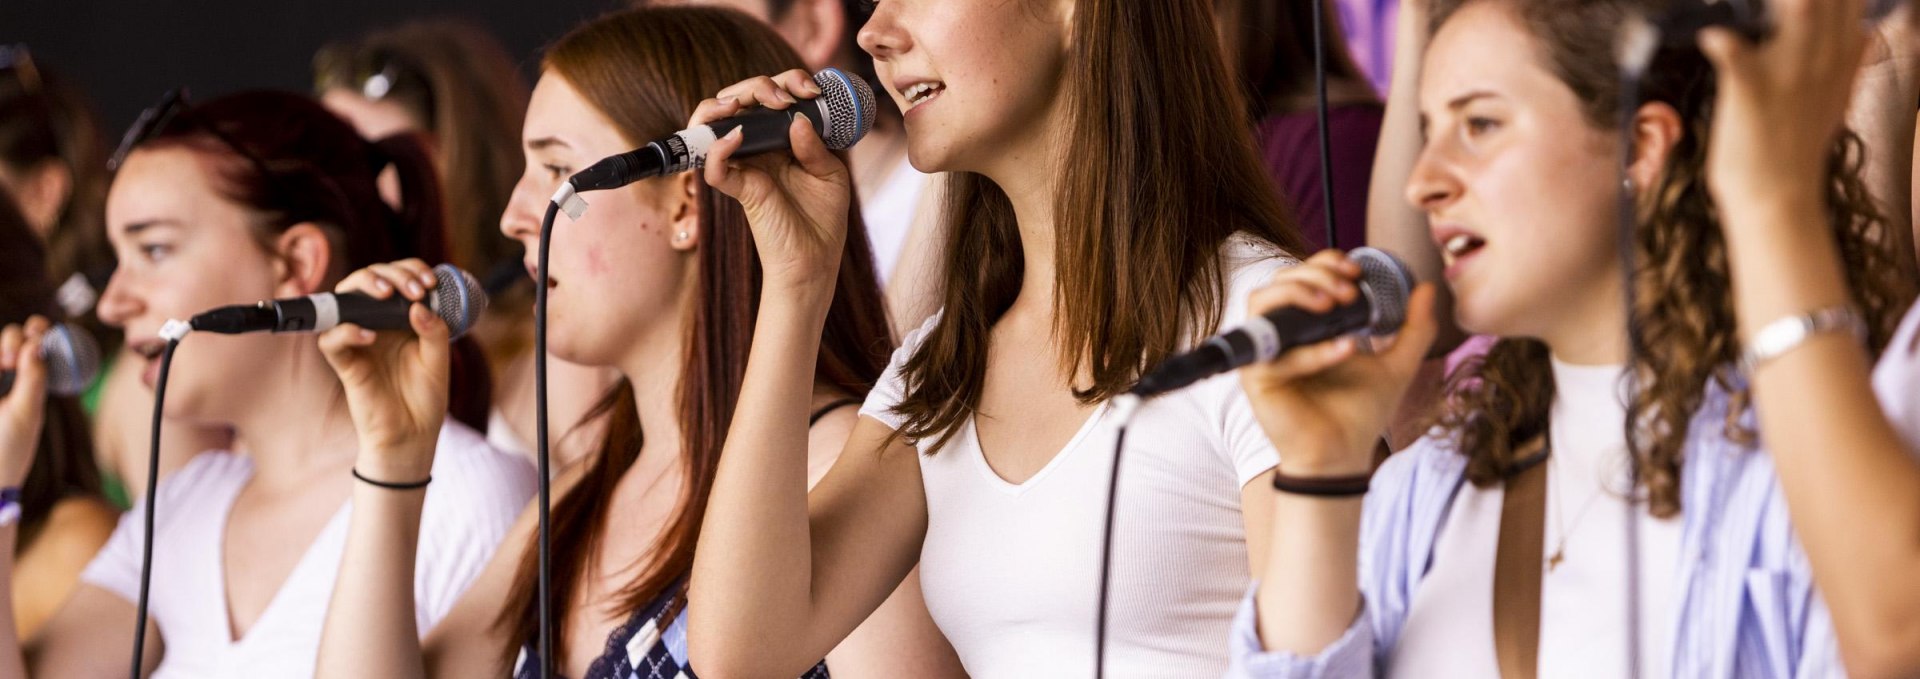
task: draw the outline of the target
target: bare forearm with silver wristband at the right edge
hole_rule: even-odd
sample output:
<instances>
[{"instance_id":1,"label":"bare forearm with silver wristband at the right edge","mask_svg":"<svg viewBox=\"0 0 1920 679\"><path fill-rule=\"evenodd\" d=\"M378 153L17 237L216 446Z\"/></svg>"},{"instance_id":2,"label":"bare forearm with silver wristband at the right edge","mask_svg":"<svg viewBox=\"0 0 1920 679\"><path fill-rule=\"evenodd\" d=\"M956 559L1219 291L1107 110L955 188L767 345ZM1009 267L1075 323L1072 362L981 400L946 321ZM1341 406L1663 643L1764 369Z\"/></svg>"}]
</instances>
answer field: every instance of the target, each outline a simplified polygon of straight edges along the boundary
<instances>
[{"instance_id":1,"label":"bare forearm with silver wristband at the right edge","mask_svg":"<svg viewBox=\"0 0 1920 679\"><path fill-rule=\"evenodd\" d=\"M1818 205L1793 199L1728 217L1743 338L1847 303L1832 232L1814 228L1826 222ZM1849 664L1920 644L1920 462L1885 420L1868 370L1853 338L1822 334L1753 376L1761 435Z\"/></svg>"}]
</instances>

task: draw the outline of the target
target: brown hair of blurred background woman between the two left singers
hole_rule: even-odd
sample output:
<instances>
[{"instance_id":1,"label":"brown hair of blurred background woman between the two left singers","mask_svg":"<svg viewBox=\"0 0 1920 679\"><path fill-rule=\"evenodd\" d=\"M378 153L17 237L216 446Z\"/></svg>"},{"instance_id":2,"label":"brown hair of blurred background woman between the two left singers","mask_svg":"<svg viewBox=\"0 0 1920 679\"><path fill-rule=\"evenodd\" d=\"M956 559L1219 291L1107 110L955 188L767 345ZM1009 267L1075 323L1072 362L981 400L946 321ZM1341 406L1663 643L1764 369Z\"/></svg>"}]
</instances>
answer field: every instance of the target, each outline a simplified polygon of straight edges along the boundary
<instances>
[{"instance_id":1,"label":"brown hair of blurred background woman between the two left singers","mask_svg":"<svg viewBox=\"0 0 1920 679\"><path fill-rule=\"evenodd\" d=\"M434 165L447 196L449 261L476 274L499 263L518 270L520 246L501 236L524 159L515 140L526 115L526 82L507 48L463 19L409 21L313 56L313 88L367 92L407 109L432 132ZM520 276L524 278L524 276Z\"/></svg>"}]
</instances>

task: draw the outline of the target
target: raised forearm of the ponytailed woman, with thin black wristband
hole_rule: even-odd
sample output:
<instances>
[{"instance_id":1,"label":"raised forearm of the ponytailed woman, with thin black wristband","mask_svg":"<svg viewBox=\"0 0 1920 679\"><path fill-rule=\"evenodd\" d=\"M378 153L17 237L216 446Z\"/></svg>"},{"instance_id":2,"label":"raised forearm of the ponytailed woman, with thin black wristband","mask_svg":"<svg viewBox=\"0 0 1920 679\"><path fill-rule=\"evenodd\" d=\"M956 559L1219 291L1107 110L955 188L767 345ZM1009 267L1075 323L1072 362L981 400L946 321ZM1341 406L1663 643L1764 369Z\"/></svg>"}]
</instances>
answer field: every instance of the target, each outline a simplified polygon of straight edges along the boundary
<instances>
[{"instance_id":1,"label":"raised forearm of the ponytailed woman, with thin black wristband","mask_svg":"<svg viewBox=\"0 0 1920 679\"><path fill-rule=\"evenodd\" d=\"M371 455L355 462L361 474L382 481L422 480L430 466L380 464ZM426 675L413 620L413 564L424 503L424 489L353 483L348 545L326 606L317 677Z\"/></svg>"}]
</instances>

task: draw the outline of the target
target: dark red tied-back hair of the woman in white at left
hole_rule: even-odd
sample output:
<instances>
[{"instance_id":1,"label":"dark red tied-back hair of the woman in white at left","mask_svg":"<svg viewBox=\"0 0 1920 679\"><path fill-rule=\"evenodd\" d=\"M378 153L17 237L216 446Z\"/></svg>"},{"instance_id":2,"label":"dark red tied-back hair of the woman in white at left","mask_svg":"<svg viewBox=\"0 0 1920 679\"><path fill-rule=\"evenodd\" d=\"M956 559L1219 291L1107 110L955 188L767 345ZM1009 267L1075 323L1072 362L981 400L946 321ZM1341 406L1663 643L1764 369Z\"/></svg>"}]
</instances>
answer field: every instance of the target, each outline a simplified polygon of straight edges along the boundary
<instances>
[{"instance_id":1,"label":"dark red tied-back hair of the woman in white at left","mask_svg":"<svg viewBox=\"0 0 1920 679\"><path fill-rule=\"evenodd\" d=\"M405 257L447 261L440 180L417 134L369 142L305 96L240 92L180 111L140 148L202 153L221 194L255 217L263 247L294 224L319 224L336 253L328 282ZM376 176L386 167L399 176L397 209L380 199ZM449 414L486 432L490 403L480 347L455 340Z\"/></svg>"}]
</instances>

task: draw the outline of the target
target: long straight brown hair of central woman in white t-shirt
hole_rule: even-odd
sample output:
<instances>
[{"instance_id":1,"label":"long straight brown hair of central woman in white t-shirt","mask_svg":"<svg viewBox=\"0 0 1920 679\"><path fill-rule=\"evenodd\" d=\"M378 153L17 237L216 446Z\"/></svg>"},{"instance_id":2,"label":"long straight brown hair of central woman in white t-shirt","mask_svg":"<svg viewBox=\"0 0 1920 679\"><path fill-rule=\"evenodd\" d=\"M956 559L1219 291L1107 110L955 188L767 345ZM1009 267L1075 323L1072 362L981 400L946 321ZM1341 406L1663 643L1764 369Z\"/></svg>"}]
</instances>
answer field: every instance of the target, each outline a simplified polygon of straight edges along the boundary
<instances>
[{"instance_id":1,"label":"long straight brown hair of central woman in white t-shirt","mask_svg":"<svg viewBox=\"0 0 1920 679\"><path fill-rule=\"evenodd\" d=\"M1012 12L1012 10L1010 10ZM1235 234L1304 253L1261 167L1213 35L1208 0L1083 0L1064 73L1069 129L1054 194L1054 336L1081 403L1114 397L1225 305L1221 247ZM906 439L945 445L979 407L993 324L1020 293L1020 230L1006 192L952 173L939 322L906 361Z\"/></svg>"}]
</instances>

